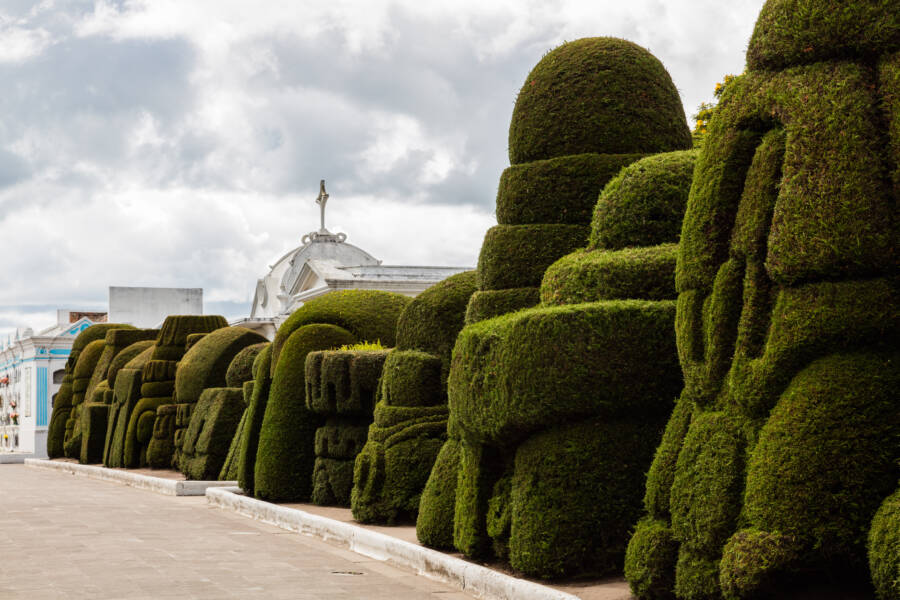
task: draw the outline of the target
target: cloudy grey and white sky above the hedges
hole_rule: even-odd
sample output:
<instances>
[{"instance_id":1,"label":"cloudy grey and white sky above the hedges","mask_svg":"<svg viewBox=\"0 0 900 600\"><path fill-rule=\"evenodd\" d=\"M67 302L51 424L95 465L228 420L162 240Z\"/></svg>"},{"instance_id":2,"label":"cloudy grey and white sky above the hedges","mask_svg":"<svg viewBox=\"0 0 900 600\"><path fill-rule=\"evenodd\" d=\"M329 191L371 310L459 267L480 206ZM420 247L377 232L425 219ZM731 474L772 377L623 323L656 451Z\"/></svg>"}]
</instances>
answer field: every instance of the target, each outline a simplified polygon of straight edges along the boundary
<instances>
[{"instance_id":1,"label":"cloudy grey and white sky above the hedges","mask_svg":"<svg viewBox=\"0 0 900 600\"><path fill-rule=\"evenodd\" d=\"M762 0L3 0L0 332L108 287L257 278L327 227L384 264L474 267L516 93L549 50L615 36L685 113L744 68Z\"/></svg>"}]
</instances>

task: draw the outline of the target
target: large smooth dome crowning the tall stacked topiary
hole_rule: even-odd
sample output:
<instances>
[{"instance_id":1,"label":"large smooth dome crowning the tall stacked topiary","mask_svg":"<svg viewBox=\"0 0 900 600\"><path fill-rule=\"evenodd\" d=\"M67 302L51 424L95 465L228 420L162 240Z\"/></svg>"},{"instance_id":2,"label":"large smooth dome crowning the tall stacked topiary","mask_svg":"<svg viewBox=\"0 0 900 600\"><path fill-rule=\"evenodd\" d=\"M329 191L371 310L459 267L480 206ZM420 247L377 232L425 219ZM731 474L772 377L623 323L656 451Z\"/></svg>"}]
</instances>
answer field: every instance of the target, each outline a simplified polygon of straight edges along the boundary
<instances>
[{"instance_id":1,"label":"large smooth dome crowning the tall stacked topiary","mask_svg":"<svg viewBox=\"0 0 900 600\"><path fill-rule=\"evenodd\" d=\"M669 73L647 50L618 38L583 38L547 54L528 74L509 125L514 165L690 147Z\"/></svg>"}]
</instances>

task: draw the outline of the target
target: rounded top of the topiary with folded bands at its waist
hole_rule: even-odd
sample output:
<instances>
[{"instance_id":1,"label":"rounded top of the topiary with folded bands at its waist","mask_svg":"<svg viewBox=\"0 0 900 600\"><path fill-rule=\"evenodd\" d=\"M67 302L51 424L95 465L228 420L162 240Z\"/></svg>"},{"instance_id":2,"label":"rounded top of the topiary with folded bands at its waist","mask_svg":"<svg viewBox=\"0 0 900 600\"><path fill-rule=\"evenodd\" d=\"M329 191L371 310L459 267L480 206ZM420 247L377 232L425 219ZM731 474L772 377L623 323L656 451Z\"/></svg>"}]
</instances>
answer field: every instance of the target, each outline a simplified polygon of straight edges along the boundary
<instances>
[{"instance_id":1,"label":"rounded top of the topiary with folded bands at its waist","mask_svg":"<svg viewBox=\"0 0 900 600\"><path fill-rule=\"evenodd\" d=\"M436 354L449 366L469 297L477 289L475 278L475 271L457 273L416 296L397 321L397 348Z\"/></svg>"}]
</instances>

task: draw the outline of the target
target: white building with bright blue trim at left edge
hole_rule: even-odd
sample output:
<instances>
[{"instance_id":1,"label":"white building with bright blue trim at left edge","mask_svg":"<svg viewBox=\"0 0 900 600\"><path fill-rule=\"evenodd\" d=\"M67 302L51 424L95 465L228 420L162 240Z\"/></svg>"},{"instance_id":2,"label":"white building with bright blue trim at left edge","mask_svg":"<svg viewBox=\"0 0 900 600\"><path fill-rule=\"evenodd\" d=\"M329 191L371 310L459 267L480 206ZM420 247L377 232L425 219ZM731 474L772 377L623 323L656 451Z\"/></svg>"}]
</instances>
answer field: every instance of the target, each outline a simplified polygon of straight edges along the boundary
<instances>
[{"instance_id":1,"label":"white building with bright blue trim at left edge","mask_svg":"<svg viewBox=\"0 0 900 600\"><path fill-rule=\"evenodd\" d=\"M58 310L57 323L0 340L0 462L47 457L53 399L65 374L72 342L106 313ZM15 453L15 454L9 454Z\"/></svg>"}]
</instances>

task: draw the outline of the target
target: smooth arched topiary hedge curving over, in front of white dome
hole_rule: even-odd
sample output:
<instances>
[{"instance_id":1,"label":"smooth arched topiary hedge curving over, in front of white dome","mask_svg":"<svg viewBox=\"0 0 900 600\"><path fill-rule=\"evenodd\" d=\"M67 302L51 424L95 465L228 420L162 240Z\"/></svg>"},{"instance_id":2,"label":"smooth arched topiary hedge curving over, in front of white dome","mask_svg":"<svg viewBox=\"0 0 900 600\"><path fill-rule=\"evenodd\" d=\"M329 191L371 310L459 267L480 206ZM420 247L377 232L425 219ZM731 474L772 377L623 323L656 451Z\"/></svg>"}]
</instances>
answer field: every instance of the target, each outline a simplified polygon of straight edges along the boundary
<instances>
[{"instance_id":1,"label":"smooth arched topiary hedge curving over, in front of white dome","mask_svg":"<svg viewBox=\"0 0 900 600\"><path fill-rule=\"evenodd\" d=\"M310 497L320 417L306 408L306 355L358 340L393 345L397 318L409 301L389 292L332 292L307 302L281 325L272 344L272 384L258 430L253 475L257 497Z\"/></svg>"}]
</instances>

